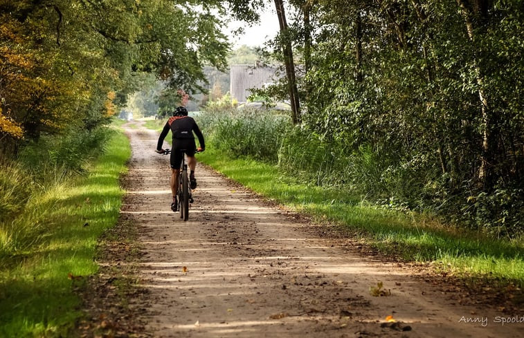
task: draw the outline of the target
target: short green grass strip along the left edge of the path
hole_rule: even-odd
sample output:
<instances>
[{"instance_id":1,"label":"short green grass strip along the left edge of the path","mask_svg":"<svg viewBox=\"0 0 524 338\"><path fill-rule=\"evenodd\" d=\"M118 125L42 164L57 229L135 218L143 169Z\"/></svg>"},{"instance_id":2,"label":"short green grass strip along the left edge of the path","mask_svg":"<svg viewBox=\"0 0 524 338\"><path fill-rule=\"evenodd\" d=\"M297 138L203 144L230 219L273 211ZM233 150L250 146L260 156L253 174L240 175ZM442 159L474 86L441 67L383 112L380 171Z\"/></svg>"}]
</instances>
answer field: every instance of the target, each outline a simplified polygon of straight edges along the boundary
<instances>
[{"instance_id":1,"label":"short green grass strip along the left edge of the path","mask_svg":"<svg viewBox=\"0 0 524 338\"><path fill-rule=\"evenodd\" d=\"M118 218L129 142L115 133L88 174L32 198L34 245L3 257L0 337L66 337L81 312L75 288L94 274L98 238Z\"/></svg>"}]
</instances>

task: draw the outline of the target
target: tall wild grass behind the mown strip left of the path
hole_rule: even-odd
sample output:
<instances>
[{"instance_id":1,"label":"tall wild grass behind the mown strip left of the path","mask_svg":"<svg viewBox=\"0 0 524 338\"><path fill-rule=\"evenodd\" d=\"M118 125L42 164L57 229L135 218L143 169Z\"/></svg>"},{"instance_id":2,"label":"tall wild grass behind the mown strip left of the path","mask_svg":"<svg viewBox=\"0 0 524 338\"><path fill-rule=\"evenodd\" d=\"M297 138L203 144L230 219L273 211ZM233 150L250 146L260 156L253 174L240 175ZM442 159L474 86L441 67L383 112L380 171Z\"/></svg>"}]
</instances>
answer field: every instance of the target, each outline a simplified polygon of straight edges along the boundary
<instances>
[{"instance_id":1,"label":"tall wild grass behind the mown strip left of the path","mask_svg":"<svg viewBox=\"0 0 524 338\"><path fill-rule=\"evenodd\" d=\"M52 207L42 207L39 200L47 190L86 173L88 162L104 152L113 133L99 128L47 136L24 147L17 161L1 166L0 253L13 254L33 245L40 232L37 217Z\"/></svg>"}]
</instances>

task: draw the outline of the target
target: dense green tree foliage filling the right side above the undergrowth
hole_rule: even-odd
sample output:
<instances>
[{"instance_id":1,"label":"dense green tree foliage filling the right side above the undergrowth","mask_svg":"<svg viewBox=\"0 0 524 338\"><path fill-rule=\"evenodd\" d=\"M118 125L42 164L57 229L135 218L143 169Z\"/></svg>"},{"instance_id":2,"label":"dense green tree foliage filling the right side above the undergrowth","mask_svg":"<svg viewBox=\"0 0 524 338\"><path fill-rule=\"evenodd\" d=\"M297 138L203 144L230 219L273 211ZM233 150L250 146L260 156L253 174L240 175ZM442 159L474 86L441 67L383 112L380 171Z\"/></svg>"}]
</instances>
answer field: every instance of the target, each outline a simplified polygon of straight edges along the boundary
<instances>
[{"instance_id":1,"label":"dense green tree foliage filling the right side above the undergrowth","mask_svg":"<svg viewBox=\"0 0 524 338\"><path fill-rule=\"evenodd\" d=\"M520 236L522 1L290 3L311 14L279 37L302 53L301 128L311 135L284 142L297 158L282 165L327 184L320 172L342 162L347 189L382 205ZM341 149L336 161L330 147Z\"/></svg>"}]
</instances>

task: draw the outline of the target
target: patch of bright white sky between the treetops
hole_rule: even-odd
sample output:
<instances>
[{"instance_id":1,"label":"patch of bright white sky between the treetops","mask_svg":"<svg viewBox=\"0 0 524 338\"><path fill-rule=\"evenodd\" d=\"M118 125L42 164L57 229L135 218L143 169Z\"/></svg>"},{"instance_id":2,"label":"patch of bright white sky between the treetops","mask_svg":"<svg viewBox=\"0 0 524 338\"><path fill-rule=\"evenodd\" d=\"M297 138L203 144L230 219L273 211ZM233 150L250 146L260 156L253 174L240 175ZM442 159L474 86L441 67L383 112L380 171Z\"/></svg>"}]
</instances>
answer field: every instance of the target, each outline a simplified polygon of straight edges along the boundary
<instances>
[{"instance_id":1,"label":"patch of bright white sky between the treetops","mask_svg":"<svg viewBox=\"0 0 524 338\"><path fill-rule=\"evenodd\" d=\"M244 35L233 37L231 31L239 27L244 27ZM233 21L228 28L226 28L226 35L230 37L233 43L233 48L242 45L256 47L263 46L268 39L273 39L279 30L278 17L273 8L265 10L260 15L260 23L251 27L243 22Z\"/></svg>"}]
</instances>

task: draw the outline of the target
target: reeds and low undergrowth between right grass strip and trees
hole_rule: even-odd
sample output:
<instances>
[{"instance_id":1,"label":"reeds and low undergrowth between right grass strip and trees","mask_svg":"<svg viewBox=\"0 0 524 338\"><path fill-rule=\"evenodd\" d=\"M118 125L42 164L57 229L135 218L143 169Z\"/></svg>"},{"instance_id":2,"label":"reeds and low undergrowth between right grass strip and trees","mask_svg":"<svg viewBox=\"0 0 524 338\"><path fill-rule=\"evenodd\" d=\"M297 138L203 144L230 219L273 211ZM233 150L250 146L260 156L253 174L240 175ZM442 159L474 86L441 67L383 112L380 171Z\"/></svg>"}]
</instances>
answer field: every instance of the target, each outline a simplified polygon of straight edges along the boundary
<instances>
[{"instance_id":1,"label":"reeds and low undergrowth between right grass strip and trees","mask_svg":"<svg viewBox=\"0 0 524 338\"><path fill-rule=\"evenodd\" d=\"M449 175L423 153L398 156L369 144L352 149L351 140L319 135L292 126L287 116L264 111L217 109L199 115L199 124L220 149L278 163L303 182L361 194L388 209L429 212L498 237L523 233L523 189L474 194L467 182L462 189L450 189Z\"/></svg>"}]
</instances>

